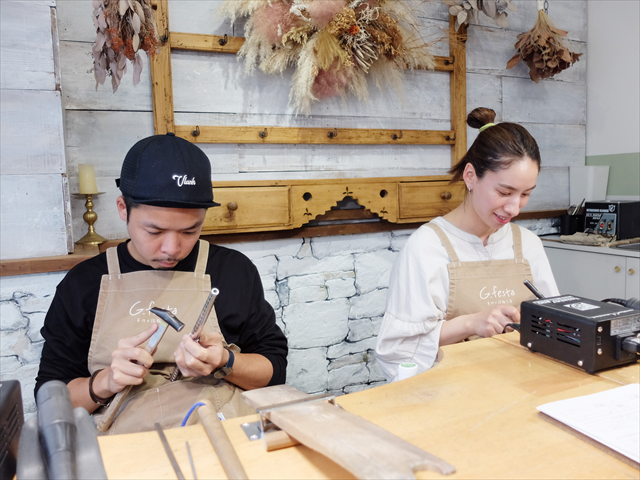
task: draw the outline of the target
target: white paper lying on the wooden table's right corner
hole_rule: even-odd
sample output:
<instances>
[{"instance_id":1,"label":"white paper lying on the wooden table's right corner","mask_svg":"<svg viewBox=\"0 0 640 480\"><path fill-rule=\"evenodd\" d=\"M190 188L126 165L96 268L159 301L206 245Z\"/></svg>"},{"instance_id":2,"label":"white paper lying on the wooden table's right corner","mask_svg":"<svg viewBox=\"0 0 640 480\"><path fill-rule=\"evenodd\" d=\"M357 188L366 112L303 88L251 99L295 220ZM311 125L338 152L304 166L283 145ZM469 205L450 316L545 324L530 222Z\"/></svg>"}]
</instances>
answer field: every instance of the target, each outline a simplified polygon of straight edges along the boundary
<instances>
[{"instance_id":1,"label":"white paper lying on the wooden table's right corner","mask_svg":"<svg viewBox=\"0 0 640 480\"><path fill-rule=\"evenodd\" d=\"M640 463L640 384L547 403L538 410Z\"/></svg>"}]
</instances>

